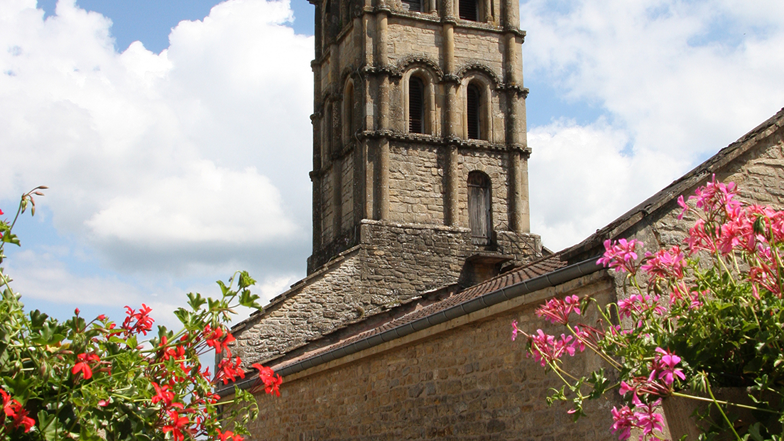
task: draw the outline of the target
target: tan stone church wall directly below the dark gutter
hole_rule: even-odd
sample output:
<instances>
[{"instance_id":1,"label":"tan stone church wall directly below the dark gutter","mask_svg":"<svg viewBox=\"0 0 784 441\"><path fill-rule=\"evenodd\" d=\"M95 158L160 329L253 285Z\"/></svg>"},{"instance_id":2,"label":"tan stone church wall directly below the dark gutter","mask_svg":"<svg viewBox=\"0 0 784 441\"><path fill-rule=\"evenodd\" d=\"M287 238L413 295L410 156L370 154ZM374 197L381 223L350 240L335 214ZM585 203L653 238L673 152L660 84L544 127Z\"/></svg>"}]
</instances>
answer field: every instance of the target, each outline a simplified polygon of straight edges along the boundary
<instances>
[{"instance_id":1,"label":"tan stone church wall directly below the dark gutter","mask_svg":"<svg viewBox=\"0 0 784 441\"><path fill-rule=\"evenodd\" d=\"M601 275L600 275L601 274ZM593 294L612 299L601 272L549 288L543 297ZM593 280L580 286L583 280ZM397 441L399 439L542 440L615 439L609 400L587 402L576 424L568 403L547 406L549 388L562 383L510 341L510 322L525 331L561 332L528 304L424 337L387 352L356 359L306 377L284 380L281 397L258 395L260 417L252 439L281 441ZM601 366L583 353L568 360L580 372Z\"/></svg>"}]
</instances>

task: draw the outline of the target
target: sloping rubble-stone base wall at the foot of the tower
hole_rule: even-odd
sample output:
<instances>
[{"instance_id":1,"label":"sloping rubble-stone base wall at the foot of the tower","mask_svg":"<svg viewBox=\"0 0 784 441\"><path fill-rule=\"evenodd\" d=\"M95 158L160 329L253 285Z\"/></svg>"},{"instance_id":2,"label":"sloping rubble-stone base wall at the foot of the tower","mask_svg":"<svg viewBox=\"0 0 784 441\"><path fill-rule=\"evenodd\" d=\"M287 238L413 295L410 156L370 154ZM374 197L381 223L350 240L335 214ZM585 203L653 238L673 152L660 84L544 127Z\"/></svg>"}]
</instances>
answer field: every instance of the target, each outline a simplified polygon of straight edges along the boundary
<instances>
[{"instance_id":1,"label":"sloping rubble-stone base wall at the foot of the tower","mask_svg":"<svg viewBox=\"0 0 784 441\"><path fill-rule=\"evenodd\" d=\"M363 221L360 245L275 297L266 312L234 326L233 352L245 363L266 363L322 335L455 283L466 257L510 254L517 262L541 256L537 235L506 231L492 246L470 244L470 230L437 225Z\"/></svg>"}]
</instances>

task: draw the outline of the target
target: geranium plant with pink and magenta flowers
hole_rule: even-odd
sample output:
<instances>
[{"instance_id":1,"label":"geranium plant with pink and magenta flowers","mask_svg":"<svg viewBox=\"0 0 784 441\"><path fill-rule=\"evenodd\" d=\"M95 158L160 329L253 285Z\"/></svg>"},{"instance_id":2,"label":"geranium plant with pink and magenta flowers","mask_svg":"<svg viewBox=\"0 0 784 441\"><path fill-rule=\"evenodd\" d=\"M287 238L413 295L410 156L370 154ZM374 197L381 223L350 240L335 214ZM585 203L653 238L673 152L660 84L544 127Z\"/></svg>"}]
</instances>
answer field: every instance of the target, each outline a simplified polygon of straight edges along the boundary
<instances>
[{"instance_id":1,"label":"geranium plant with pink and magenta flowers","mask_svg":"<svg viewBox=\"0 0 784 441\"><path fill-rule=\"evenodd\" d=\"M597 262L625 274L622 298L608 305L586 297L551 299L536 314L564 326L561 337L543 330L522 334L532 357L564 381L549 403L569 401L573 417L585 416L583 402L617 393L625 406L612 409L610 430L628 439L662 439L662 399L678 396L710 403L701 439L781 440L784 400L784 212L746 205L735 184L713 177L688 201L678 203L695 219L682 246L642 254L637 239L604 242ZM596 323L579 323L589 308ZM571 315L571 316L570 316ZM570 372L565 355L591 351L606 368L589 375ZM612 374L606 369L614 370ZM618 378L619 381L609 381ZM752 406L726 403L717 388L746 388ZM735 430L733 414L753 411L757 422ZM778 429L775 429L778 428Z\"/></svg>"}]
</instances>

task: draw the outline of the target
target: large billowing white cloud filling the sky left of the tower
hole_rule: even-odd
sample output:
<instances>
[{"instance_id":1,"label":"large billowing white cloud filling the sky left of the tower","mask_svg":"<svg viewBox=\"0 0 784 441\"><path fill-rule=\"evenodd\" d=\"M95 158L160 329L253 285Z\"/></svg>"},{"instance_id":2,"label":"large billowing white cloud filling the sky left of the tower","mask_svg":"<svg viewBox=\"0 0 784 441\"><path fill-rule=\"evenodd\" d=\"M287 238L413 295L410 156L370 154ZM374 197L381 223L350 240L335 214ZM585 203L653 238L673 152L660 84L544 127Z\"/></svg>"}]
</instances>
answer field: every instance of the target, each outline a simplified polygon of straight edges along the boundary
<instances>
[{"instance_id":1,"label":"large billowing white cloud filling the sky left of the tower","mask_svg":"<svg viewBox=\"0 0 784 441\"><path fill-rule=\"evenodd\" d=\"M125 272L283 248L303 266L313 39L282 25L289 2L216 5L160 54L115 52L111 21L73 0L35 6L0 5L0 199L48 185L58 231Z\"/></svg>"}]
</instances>

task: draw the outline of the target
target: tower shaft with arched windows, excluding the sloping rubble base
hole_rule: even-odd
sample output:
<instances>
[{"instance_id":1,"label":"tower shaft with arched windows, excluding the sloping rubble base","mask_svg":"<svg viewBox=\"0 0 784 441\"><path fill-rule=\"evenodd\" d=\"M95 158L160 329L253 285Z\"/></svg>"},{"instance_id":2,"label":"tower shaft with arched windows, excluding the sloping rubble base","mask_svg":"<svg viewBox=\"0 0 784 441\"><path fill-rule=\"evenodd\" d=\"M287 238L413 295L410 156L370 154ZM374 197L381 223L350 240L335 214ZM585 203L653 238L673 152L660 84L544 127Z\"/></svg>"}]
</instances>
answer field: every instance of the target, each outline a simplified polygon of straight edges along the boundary
<instances>
[{"instance_id":1,"label":"tower shaft with arched windows, excluding the sloping rubble base","mask_svg":"<svg viewBox=\"0 0 784 441\"><path fill-rule=\"evenodd\" d=\"M308 273L356 246L364 220L469 228L477 251L530 242L518 2L310 2Z\"/></svg>"}]
</instances>

